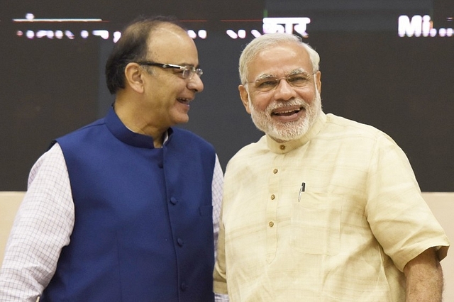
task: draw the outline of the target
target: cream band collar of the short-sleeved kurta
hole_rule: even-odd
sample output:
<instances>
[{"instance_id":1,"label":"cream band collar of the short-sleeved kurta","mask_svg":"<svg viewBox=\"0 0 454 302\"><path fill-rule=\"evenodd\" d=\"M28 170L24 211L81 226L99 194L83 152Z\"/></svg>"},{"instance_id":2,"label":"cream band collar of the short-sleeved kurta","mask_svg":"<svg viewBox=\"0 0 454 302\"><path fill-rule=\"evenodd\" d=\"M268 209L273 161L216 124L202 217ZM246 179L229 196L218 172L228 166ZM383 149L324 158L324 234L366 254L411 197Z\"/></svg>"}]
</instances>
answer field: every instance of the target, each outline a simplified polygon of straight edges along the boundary
<instances>
[{"instance_id":1,"label":"cream band collar of the short-sleeved kurta","mask_svg":"<svg viewBox=\"0 0 454 302\"><path fill-rule=\"evenodd\" d=\"M309 142L312 138L314 138L323 126L326 123L326 114L323 113L323 111L320 113L319 118L317 118L317 121L312 125L312 127L309 129L309 131L301 138L298 140L290 140L288 142L277 142L273 140L269 135L266 135L267 138L267 146L270 149L271 152L277 153L277 154L285 154L288 153L292 150L295 150L302 145L306 144L306 142Z\"/></svg>"}]
</instances>

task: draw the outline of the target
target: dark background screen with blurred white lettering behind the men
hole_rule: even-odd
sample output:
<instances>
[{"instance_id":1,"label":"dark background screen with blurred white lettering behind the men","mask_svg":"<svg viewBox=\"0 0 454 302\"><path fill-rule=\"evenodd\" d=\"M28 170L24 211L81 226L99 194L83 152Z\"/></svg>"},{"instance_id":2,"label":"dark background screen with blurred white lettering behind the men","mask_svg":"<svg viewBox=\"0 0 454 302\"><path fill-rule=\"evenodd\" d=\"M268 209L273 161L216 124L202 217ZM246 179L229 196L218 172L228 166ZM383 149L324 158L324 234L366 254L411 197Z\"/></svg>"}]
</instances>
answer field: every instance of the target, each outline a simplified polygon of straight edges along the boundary
<instances>
[{"instance_id":1,"label":"dark background screen with blurred white lettering behind the men","mask_svg":"<svg viewBox=\"0 0 454 302\"><path fill-rule=\"evenodd\" d=\"M28 39L17 30L113 33L139 14L171 14L187 28L208 30L206 39L195 39L205 90L182 127L212 142L223 167L262 135L237 89L238 57L253 38L250 29L261 30L264 16L309 17L305 42L321 55L323 110L391 135L408 155L421 190L454 191L454 36L397 35L400 15L427 14L434 28L454 28L448 19L453 1L6 0L0 6L0 191L25 190L31 166L50 141L103 116L113 101L103 74L111 38ZM26 13L106 22L13 21ZM226 29L240 28L247 29L246 38L226 35Z\"/></svg>"}]
</instances>

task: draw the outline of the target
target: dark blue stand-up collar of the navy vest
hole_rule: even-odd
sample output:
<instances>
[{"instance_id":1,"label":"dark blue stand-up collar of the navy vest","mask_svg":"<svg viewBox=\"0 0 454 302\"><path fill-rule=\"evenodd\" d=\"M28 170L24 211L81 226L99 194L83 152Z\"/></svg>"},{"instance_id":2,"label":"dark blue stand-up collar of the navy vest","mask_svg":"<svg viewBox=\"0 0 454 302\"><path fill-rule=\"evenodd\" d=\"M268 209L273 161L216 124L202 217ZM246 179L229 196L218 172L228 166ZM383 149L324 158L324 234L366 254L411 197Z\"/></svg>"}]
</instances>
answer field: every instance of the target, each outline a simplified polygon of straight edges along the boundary
<instances>
[{"instance_id":1,"label":"dark blue stand-up collar of the navy vest","mask_svg":"<svg viewBox=\"0 0 454 302\"><path fill-rule=\"evenodd\" d=\"M153 144L153 138L151 136L135 133L129 130L126 125L124 125L120 120L120 118L118 118L114 111L114 108L109 109L109 112L107 113L104 121L112 135L114 135L118 140L121 140L125 144L140 148L155 148L155 145ZM170 139L172 138L172 132L172 128L169 128L167 130L167 133L165 134L164 144L170 142Z\"/></svg>"}]
</instances>

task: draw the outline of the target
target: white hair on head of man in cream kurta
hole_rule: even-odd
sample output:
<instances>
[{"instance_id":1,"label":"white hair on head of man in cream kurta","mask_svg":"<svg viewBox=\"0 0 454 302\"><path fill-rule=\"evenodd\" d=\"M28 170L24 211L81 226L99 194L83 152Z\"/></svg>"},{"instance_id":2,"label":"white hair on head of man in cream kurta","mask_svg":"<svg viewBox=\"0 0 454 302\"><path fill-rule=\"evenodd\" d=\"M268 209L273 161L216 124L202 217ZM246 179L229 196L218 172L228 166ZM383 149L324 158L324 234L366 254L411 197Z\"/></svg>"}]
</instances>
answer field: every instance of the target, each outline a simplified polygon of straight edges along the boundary
<instances>
[{"instance_id":1,"label":"white hair on head of man in cream kurta","mask_svg":"<svg viewBox=\"0 0 454 302\"><path fill-rule=\"evenodd\" d=\"M290 35L289 33L267 33L252 40L243 50L240 55L240 81L241 84L248 82L248 67L256 55L262 50L265 50L270 45L277 45L279 43L295 43L301 45L309 53L309 59L312 63L312 72L319 70L320 56L309 44L304 43L297 35Z\"/></svg>"}]
</instances>

